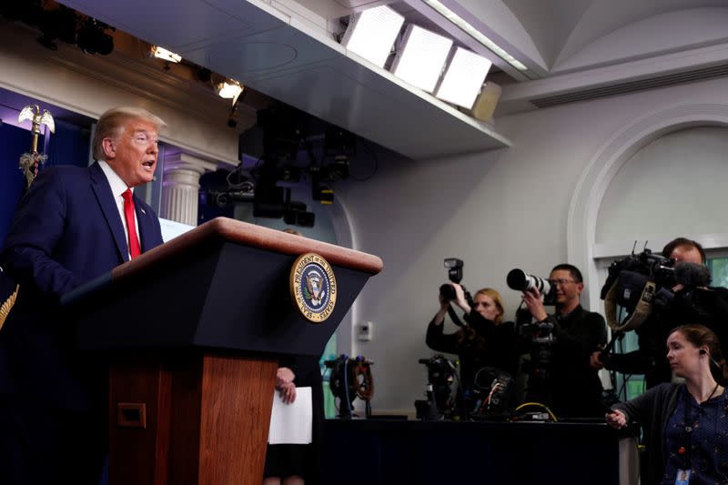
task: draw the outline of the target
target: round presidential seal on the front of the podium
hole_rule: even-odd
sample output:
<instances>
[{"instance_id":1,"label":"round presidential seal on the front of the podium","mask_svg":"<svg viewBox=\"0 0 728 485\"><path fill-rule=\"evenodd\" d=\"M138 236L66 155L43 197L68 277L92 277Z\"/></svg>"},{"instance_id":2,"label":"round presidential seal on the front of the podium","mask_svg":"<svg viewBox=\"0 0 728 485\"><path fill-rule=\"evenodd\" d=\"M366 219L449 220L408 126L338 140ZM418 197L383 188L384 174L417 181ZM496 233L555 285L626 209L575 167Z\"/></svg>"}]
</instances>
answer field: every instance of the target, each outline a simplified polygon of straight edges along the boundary
<instances>
[{"instance_id":1,"label":"round presidential seal on the front of the podium","mask_svg":"<svg viewBox=\"0 0 728 485\"><path fill-rule=\"evenodd\" d=\"M290 268L290 297L312 322L329 318L336 305L336 278L326 259L316 253L299 256Z\"/></svg>"}]
</instances>

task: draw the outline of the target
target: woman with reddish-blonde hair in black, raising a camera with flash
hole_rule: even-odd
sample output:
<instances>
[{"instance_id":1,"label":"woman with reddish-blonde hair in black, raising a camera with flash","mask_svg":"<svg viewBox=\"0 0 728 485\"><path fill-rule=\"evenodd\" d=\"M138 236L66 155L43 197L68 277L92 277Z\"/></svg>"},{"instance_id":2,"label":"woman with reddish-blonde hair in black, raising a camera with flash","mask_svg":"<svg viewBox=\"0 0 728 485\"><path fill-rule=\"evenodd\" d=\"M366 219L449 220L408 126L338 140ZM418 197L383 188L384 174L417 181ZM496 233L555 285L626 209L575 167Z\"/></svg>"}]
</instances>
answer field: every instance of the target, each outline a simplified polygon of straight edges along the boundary
<instances>
[{"instance_id":1,"label":"woman with reddish-blonde hair in black, raising a camera with flash","mask_svg":"<svg viewBox=\"0 0 728 485\"><path fill-rule=\"evenodd\" d=\"M438 352L457 354L460 358L460 380L463 388L472 389L476 373L485 367L503 370L514 376L518 368L516 334L513 322L503 321L501 294L492 288L475 293L472 306L458 283L450 283L453 298L438 295L440 309L427 328L426 343ZM450 305L465 313L465 325L458 331L444 333L445 314Z\"/></svg>"}]
</instances>

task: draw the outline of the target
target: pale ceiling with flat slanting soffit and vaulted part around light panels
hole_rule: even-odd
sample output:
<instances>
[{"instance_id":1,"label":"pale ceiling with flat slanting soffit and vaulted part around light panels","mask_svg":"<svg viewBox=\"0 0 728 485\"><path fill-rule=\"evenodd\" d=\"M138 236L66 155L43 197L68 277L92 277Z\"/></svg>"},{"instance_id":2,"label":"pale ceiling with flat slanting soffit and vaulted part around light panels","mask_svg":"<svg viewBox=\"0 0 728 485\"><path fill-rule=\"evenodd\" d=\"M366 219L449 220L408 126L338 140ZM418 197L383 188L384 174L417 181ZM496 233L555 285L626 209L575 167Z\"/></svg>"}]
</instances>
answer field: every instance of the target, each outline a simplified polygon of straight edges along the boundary
<instances>
[{"instance_id":1,"label":"pale ceiling with flat slanting soffit and vaulted part around light panels","mask_svg":"<svg viewBox=\"0 0 728 485\"><path fill-rule=\"evenodd\" d=\"M421 0L63 0L258 91L420 159L507 147L335 40L339 17L390 4L503 73L498 113L532 100L728 64L728 0L440 0L529 67L520 73ZM503 76L499 79L501 79Z\"/></svg>"}]
</instances>

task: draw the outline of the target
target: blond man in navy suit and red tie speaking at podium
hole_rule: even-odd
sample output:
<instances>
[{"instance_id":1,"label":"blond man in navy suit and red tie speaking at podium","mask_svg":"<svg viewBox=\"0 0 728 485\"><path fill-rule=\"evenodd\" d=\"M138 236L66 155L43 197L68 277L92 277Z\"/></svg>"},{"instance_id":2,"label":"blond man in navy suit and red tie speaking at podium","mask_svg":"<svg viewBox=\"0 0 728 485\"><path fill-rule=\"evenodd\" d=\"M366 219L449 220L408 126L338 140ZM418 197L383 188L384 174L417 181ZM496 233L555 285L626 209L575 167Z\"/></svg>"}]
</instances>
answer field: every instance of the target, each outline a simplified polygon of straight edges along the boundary
<instances>
[{"instance_id":1,"label":"blond man in navy suit and red tie speaking at podium","mask_svg":"<svg viewBox=\"0 0 728 485\"><path fill-rule=\"evenodd\" d=\"M0 265L19 283L0 328L0 483L96 485L106 458L106 366L75 349L67 291L162 244L134 197L157 167L165 123L117 107L98 120L90 167L49 167L15 212ZM136 308L128 308L134 318Z\"/></svg>"}]
</instances>

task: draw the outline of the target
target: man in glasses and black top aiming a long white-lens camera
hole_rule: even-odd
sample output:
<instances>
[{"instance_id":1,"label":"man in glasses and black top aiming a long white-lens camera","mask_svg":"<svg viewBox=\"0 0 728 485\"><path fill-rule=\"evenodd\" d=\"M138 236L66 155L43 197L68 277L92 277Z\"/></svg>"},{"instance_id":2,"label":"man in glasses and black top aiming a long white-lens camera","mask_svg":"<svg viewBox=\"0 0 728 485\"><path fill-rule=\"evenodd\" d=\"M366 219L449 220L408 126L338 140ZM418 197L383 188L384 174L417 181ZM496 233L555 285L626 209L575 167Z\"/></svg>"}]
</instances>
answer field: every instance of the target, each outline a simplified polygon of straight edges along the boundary
<instances>
[{"instance_id":1,"label":"man in glasses and black top aiming a long white-lens camera","mask_svg":"<svg viewBox=\"0 0 728 485\"><path fill-rule=\"evenodd\" d=\"M523 291L523 302L531 316L551 327L553 337L550 365L539 369L539 375L531 372L527 400L551 407L560 417L602 416L602 382L591 353L607 340L604 318L581 308L584 284L578 268L557 265L549 281L556 288L553 315L546 312L538 288Z\"/></svg>"}]
</instances>

